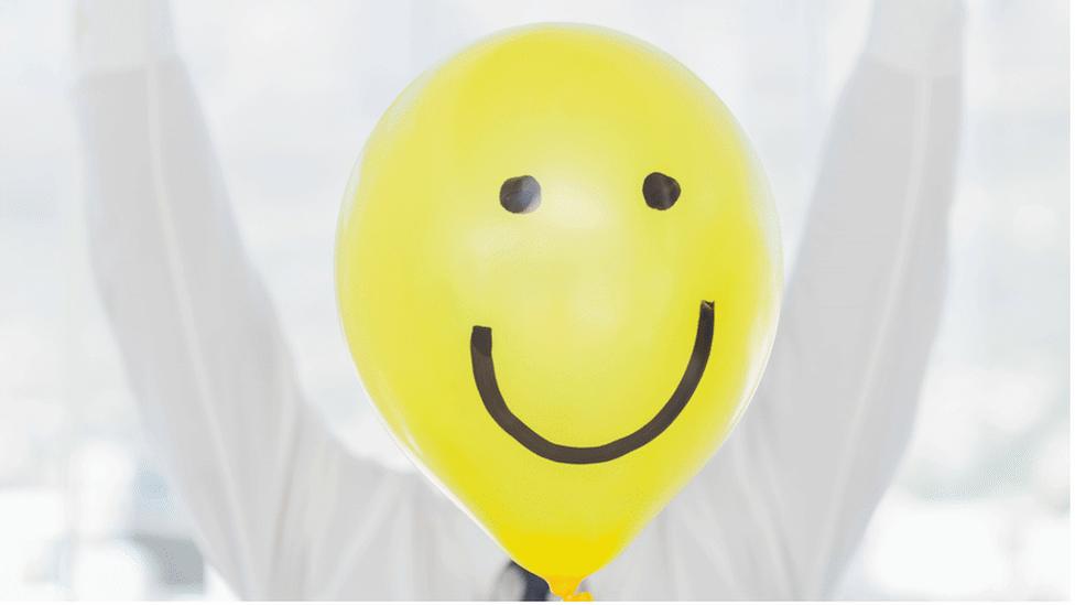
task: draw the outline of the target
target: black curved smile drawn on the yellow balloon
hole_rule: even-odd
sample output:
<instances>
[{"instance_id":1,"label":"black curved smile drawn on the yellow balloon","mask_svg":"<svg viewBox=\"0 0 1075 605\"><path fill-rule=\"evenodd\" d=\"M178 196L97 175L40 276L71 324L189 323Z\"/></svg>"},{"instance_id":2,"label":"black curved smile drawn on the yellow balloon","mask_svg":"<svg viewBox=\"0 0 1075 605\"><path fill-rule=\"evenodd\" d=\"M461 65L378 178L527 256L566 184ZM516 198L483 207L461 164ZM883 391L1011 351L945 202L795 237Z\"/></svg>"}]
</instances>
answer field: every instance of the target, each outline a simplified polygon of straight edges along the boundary
<instances>
[{"instance_id":1,"label":"black curved smile drawn on the yellow balloon","mask_svg":"<svg viewBox=\"0 0 1075 605\"><path fill-rule=\"evenodd\" d=\"M474 383L478 387L481 402L489 415L509 435L531 452L554 462L565 464L596 464L616 460L633 452L656 439L675 421L686 407L698 381L705 372L713 345L713 302L703 301L698 311L698 331L694 338L694 350L678 386L669 401L649 422L633 433L610 441L604 445L575 446L554 443L538 434L517 417L504 402L497 372L492 365L492 328L476 325L470 332L470 365L474 368Z\"/></svg>"}]
</instances>

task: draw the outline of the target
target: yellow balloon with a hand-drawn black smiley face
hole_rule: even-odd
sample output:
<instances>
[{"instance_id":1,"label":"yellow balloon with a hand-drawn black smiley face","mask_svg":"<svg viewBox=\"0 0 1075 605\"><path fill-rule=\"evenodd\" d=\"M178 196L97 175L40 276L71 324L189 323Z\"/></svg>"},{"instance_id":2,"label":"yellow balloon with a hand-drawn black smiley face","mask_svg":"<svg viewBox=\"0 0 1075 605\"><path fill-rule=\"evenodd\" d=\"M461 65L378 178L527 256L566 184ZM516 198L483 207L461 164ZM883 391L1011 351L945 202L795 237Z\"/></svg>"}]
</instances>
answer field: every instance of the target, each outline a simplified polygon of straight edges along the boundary
<instances>
[{"instance_id":1,"label":"yellow balloon with a hand-drawn black smiley face","mask_svg":"<svg viewBox=\"0 0 1075 605\"><path fill-rule=\"evenodd\" d=\"M593 26L502 32L411 84L337 238L389 429L562 596L724 441L779 313L777 220L731 114Z\"/></svg>"}]
</instances>

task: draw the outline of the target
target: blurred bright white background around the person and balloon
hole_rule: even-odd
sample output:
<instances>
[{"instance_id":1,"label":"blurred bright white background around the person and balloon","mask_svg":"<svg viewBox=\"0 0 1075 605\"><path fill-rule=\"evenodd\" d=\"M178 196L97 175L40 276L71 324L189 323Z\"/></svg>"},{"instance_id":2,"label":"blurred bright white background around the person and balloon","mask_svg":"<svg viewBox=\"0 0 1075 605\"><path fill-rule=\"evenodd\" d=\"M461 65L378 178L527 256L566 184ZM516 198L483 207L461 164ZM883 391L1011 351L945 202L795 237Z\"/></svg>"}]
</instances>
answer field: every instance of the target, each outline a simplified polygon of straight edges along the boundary
<instances>
[{"instance_id":1,"label":"blurred bright white background around the person and balloon","mask_svg":"<svg viewBox=\"0 0 1075 605\"><path fill-rule=\"evenodd\" d=\"M1069 8L968 4L941 334L911 449L840 597L1068 596ZM139 430L89 273L72 11L0 0L0 597L228 597ZM173 13L308 399L356 453L406 467L352 369L332 271L348 173L394 95L510 25L651 41L753 140L790 267L869 3L200 0Z\"/></svg>"}]
</instances>

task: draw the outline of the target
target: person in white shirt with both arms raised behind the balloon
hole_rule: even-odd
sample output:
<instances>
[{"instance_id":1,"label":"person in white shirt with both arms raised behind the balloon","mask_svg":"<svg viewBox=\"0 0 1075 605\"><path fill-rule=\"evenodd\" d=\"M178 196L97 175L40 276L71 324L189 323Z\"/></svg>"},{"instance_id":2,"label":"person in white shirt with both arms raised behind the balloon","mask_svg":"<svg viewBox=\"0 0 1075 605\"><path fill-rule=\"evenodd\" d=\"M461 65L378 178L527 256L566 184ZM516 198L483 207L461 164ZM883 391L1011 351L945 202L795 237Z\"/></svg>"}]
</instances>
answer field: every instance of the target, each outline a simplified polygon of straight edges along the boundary
<instances>
[{"instance_id":1,"label":"person in white shirt with both arms raised behind the balloon","mask_svg":"<svg viewBox=\"0 0 1075 605\"><path fill-rule=\"evenodd\" d=\"M243 598L545 598L426 479L351 455L304 401L166 4L76 10L96 282L206 559ZM832 594L906 446L937 331L963 22L956 0L877 2L753 402L587 581L596 598Z\"/></svg>"}]
</instances>

